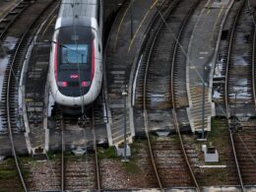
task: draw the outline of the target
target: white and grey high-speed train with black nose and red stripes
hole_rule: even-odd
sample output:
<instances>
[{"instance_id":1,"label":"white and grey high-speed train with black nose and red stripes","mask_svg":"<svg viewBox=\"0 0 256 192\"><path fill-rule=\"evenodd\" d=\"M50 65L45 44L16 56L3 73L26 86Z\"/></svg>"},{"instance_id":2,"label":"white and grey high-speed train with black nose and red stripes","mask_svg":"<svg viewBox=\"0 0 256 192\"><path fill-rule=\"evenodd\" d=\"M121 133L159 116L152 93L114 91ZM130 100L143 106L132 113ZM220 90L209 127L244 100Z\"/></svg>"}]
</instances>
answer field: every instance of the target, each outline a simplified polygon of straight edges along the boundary
<instances>
[{"instance_id":1,"label":"white and grey high-speed train with black nose and red stripes","mask_svg":"<svg viewBox=\"0 0 256 192\"><path fill-rule=\"evenodd\" d=\"M49 83L55 102L88 105L102 82L102 0L62 0L51 41Z\"/></svg>"}]
</instances>

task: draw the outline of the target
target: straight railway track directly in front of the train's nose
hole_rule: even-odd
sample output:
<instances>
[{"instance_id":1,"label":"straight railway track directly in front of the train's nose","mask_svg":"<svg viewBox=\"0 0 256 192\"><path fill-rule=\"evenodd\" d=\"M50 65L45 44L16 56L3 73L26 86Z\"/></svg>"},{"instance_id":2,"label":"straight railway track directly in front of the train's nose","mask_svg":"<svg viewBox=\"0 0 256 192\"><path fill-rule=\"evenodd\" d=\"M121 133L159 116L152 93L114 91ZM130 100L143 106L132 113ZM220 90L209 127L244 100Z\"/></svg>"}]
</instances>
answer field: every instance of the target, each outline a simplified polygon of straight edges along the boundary
<instances>
[{"instance_id":1,"label":"straight railway track directly in front of the train's nose","mask_svg":"<svg viewBox=\"0 0 256 192\"><path fill-rule=\"evenodd\" d=\"M72 119L74 120L74 118ZM90 129L93 138L92 146L83 145L74 153L77 156L67 155L65 152L65 130L69 126L71 117L60 117L62 156L61 156L61 190L100 190L100 172L97 159L95 110L92 107L92 116L85 119L82 129ZM86 137L86 130L84 130ZM86 139L86 138L85 138ZM94 155L90 153L94 151Z\"/></svg>"}]
</instances>

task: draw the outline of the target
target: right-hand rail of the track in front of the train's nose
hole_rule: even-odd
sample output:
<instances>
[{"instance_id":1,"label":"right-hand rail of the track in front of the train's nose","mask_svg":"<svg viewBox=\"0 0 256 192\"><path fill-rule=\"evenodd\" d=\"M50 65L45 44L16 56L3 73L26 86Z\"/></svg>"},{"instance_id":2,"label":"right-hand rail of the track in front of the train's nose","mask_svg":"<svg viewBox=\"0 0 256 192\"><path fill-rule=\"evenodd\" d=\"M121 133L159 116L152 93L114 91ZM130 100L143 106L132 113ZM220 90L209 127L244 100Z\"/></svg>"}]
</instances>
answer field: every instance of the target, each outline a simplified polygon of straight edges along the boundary
<instances>
[{"instance_id":1,"label":"right-hand rail of the track in front of the train's nose","mask_svg":"<svg viewBox=\"0 0 256 192\"><path fill-rule=\"evenodd\" d=\"M97 148L96 148L96 122L95 122L95 106L92 106L92 133L94 139L94 151L95 151L95 159L96 159L96 190L100 191L100 173L99 173L99 165L98 165L98 158L97 158Z\"/></svg>"}]
</instances>

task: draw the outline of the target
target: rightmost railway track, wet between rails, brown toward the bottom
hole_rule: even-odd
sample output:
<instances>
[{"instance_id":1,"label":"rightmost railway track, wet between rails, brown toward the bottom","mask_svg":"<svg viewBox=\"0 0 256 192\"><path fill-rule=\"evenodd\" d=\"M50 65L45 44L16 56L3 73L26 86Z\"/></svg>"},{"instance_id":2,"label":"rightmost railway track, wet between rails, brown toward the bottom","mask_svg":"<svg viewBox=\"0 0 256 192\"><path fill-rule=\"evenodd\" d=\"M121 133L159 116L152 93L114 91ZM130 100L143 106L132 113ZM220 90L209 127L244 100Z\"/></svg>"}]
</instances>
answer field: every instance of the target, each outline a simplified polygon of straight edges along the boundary
<instances>
[{"instance_id":1,"label":"rightmost railway track, wet between rails, brown toward the bottom","mask_svg":"<svg viewBox=\"0 0 256 192\"><path fill-rule=\"evenodd\" d=\"M244 185L255 184L255 165L253 163L255 122L253 33L254 25L247 16L246 1L234 2L232 12L225 21L219 49L219 90L218 99L225 109L226 129L236 165L237 177L242 191ZM222 51L224 50L224 54ZM224 81L222 81L222 79ZM224 92L224 93L223 93ZM241 129L242 131L238 131ZM250 134L247 137L246 134ZM248 139L249 138L249 139ZM251 149L250 149L251 147Z\"/></svg>"}]
</instances>

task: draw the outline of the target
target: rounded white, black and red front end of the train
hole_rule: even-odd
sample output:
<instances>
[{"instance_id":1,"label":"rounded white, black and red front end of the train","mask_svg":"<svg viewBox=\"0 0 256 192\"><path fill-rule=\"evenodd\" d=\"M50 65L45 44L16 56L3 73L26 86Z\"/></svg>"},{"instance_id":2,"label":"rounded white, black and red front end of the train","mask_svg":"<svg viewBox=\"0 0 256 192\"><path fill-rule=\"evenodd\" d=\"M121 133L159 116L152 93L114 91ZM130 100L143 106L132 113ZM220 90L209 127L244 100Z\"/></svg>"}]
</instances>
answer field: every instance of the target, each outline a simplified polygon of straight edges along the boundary
<instances>
[{"instance_id":1,"label":"rounded white, black and red front end of the train","mask_svg":"<svg viewBox=\"0 0 256 192\"><path fill-rule=\"evenodd\" d=\"M101 89L102 66L96 31L88 27L65 27L54 32L50 89L63 106L88 105Z\"/></svg>"}]
</instances>

